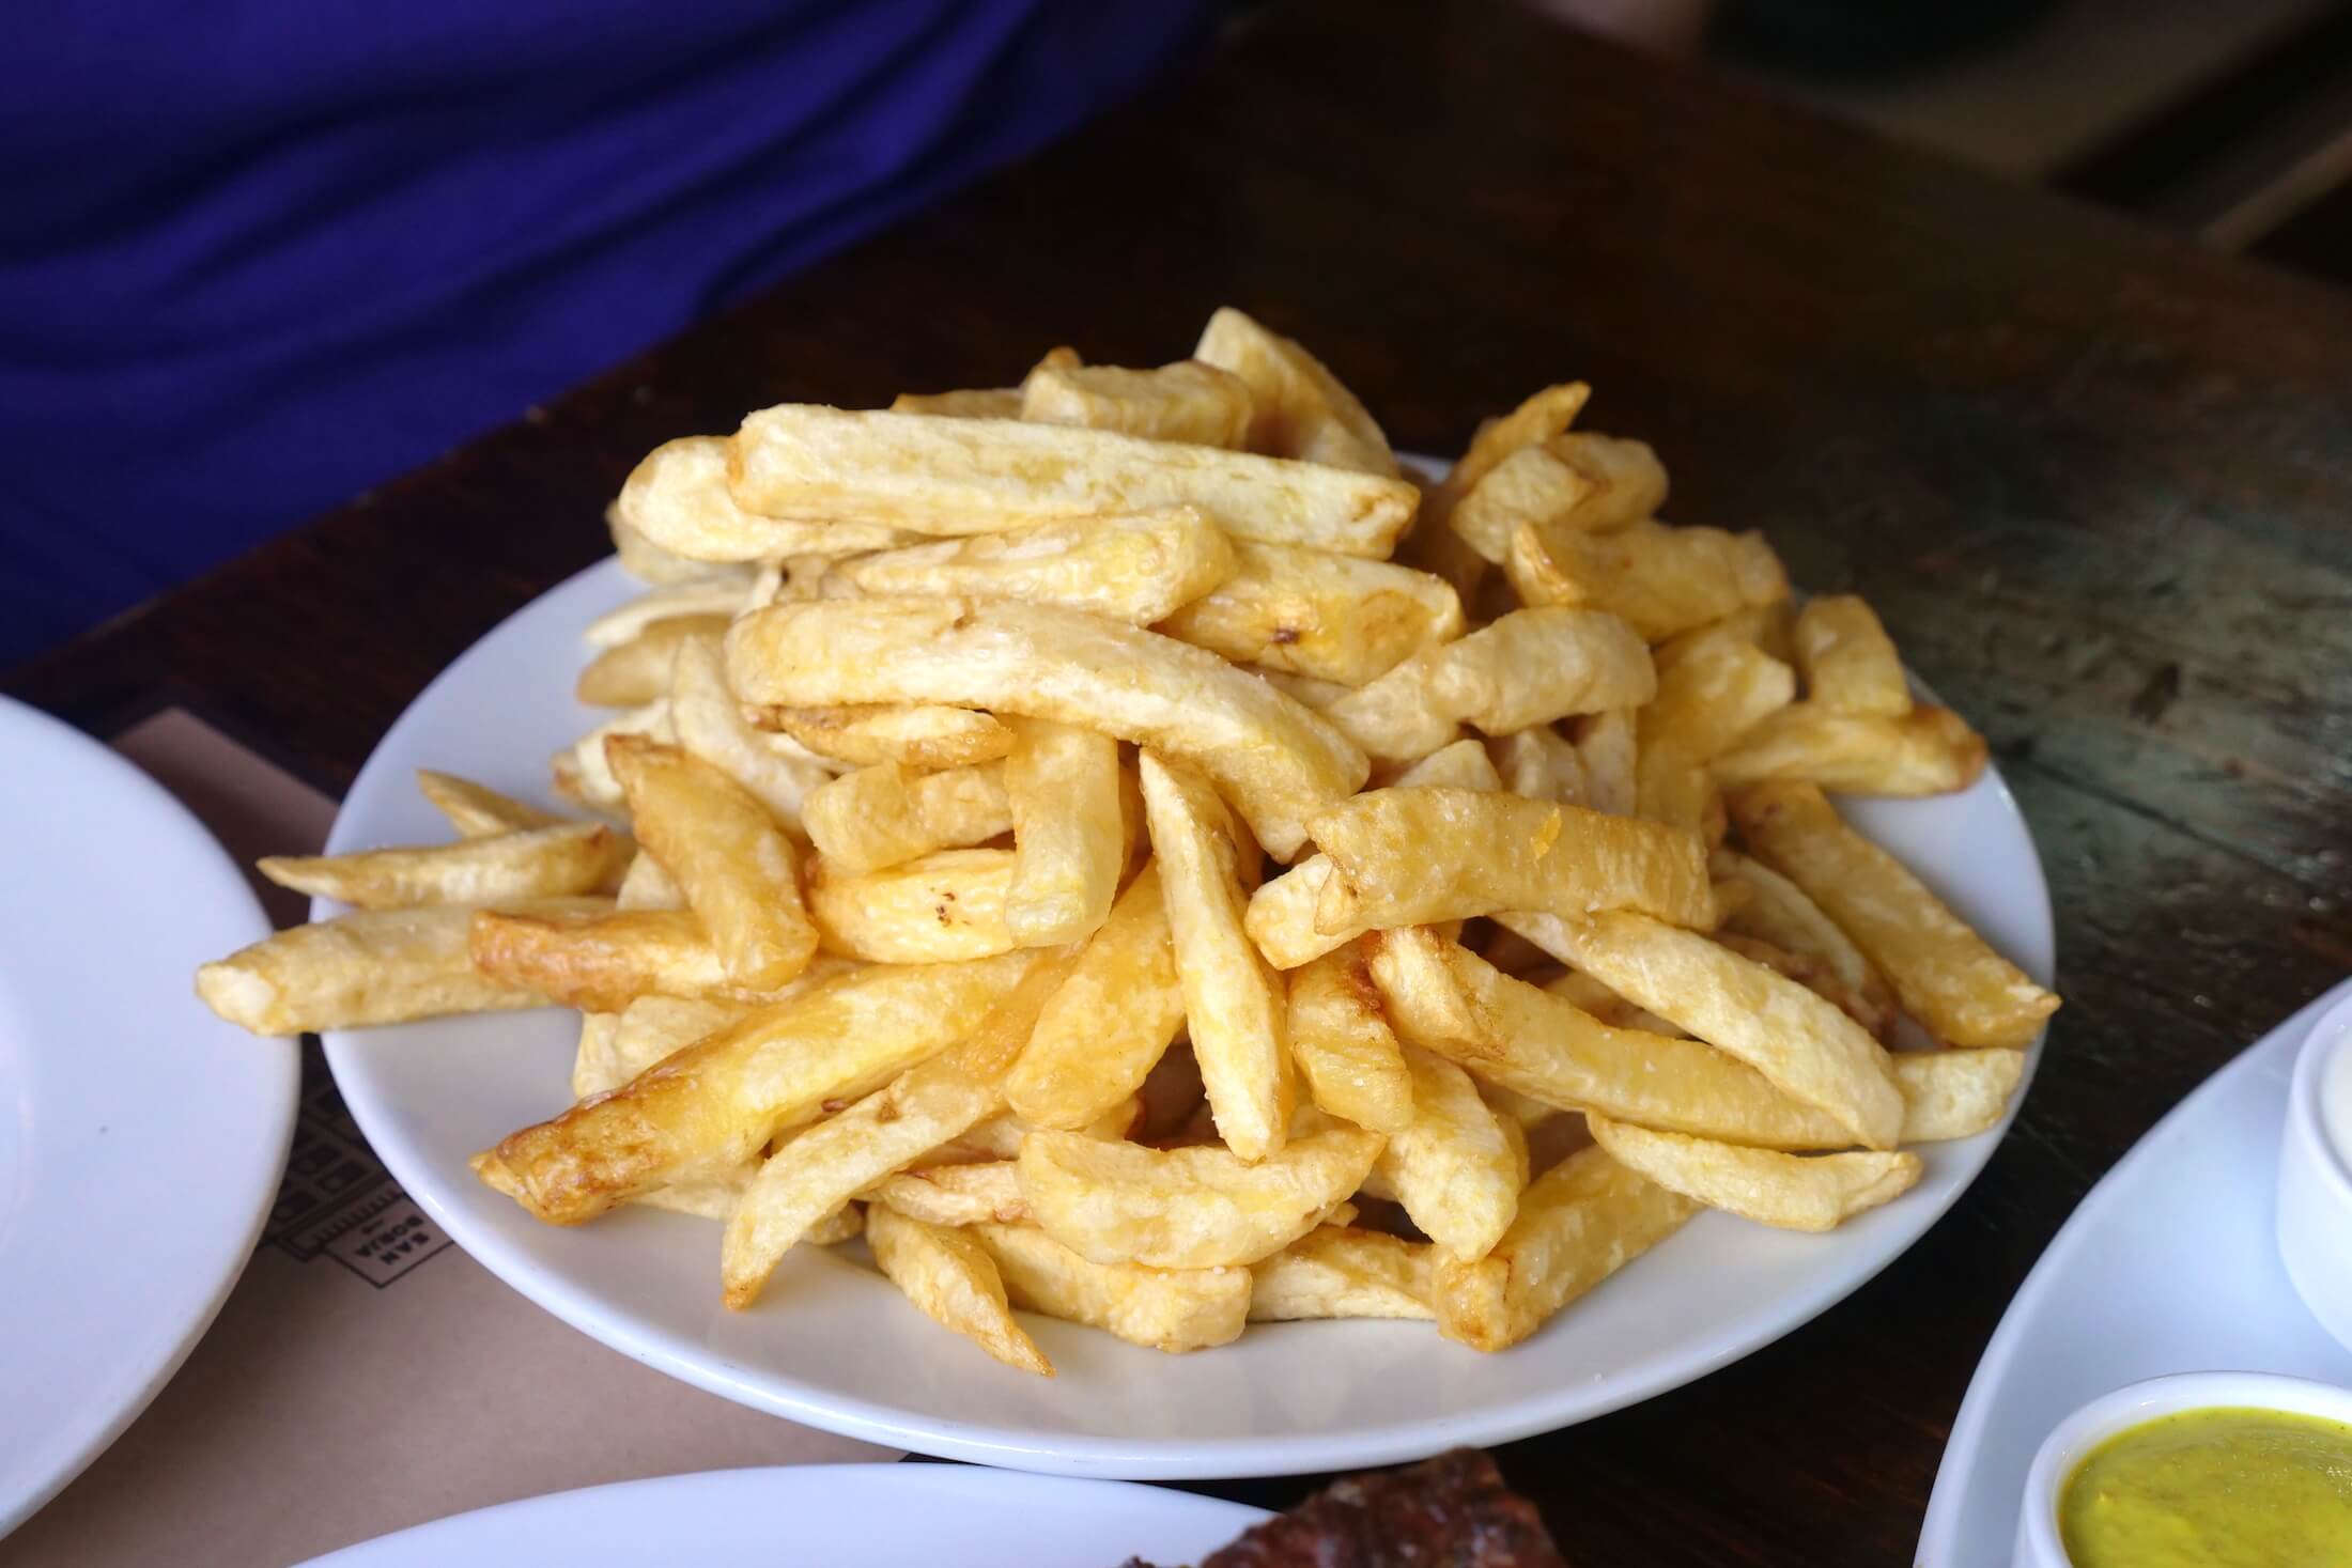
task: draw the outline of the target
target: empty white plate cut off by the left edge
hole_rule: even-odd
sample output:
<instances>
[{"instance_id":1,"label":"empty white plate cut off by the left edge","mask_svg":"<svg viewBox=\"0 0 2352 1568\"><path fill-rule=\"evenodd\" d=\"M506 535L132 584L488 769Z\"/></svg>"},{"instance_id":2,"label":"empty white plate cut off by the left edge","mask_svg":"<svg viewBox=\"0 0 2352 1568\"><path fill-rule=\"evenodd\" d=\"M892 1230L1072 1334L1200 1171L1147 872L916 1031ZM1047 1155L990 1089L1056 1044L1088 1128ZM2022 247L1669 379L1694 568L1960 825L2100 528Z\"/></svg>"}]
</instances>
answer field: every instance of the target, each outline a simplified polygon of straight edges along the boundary
<instances>
[{"instance_id":1,"label":"empty white plate cut off by the left edge","mask_svg":"<svg viewBox=\"0 0 2352 1568\"><path fill-rule=\"evenodd\" d=\"M78 1476L212 1324L294 1133L299 1060L195 999L268 933L202 825L0 698L0 1535Z\"/></svg>"}]
</instances>

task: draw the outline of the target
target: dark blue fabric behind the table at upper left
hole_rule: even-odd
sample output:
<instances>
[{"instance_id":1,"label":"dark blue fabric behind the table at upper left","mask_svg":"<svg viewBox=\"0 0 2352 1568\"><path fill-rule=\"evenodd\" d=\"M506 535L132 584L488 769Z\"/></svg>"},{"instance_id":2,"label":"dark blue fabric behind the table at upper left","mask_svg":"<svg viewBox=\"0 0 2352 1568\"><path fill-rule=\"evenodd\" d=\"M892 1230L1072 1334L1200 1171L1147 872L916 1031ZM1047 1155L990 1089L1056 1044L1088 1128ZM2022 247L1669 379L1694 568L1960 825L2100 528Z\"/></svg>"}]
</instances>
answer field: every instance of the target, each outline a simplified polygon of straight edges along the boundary
<instances>
[{"instance_id":1,"label":"dark blue fabric behind the table at upper left","mask_svg":"<svg viewBox=\"0 0 2352 1568\"><path fill-rule=\"evenodd\" d=\"M0 665L1018 158L1150 80L1204 12L21 7Z\"/></svg>"}]
</instances>

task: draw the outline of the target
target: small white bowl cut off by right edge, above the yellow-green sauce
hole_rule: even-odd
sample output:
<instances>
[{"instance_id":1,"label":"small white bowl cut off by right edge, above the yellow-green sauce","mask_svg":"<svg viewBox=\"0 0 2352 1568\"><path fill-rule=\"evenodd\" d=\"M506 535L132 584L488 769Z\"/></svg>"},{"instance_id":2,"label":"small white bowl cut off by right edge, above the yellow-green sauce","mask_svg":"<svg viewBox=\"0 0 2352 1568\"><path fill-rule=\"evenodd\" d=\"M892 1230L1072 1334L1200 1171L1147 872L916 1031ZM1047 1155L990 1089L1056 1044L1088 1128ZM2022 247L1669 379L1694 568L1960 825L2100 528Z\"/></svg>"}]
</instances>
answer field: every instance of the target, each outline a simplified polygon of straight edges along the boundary
<instances>
[{"instance_id":1,"label":"small white bowl cut off by right edge, above the yellow-green sauce","mask_svg":"<svg viewBox=\"0 0 2352 1568\"><path fill-rule=\"evenodd\" d=\"M2352 1107L2336 1084L2338 1126L2324 1117L2331 1074L2352 1072L2352 1001L2319 1016L2296 1056L2279 1138L2279 1260L2319 1326L2352 1349Z\"/></svg>"}]
</instances>

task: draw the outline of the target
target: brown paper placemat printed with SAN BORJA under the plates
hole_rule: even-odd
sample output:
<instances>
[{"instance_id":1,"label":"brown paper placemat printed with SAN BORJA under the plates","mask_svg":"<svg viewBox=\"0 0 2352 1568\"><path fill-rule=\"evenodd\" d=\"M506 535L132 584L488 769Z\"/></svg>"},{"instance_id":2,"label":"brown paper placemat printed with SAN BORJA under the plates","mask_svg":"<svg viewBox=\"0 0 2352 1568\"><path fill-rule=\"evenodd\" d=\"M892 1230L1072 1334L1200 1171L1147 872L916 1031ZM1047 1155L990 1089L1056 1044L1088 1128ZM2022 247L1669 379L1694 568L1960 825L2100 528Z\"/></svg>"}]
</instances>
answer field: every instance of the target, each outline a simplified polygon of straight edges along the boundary
<instances>
[{"instance_id":1,"label":"brown paper placemat printed with SAN BORJA under the plates","mask_svg":"<svg viewBox=\"0 0 2352 1568\"><path fill-rule=\"evenodd\" d=\"M115 748L240 865L327 839L332 799L183 710ZM308 910L263 903L280 926ZM666 1378L499 1284L376 1164L303 1041L294 1152L245 1276L129 1432L0 1540L0 1568L294 1563L574 1486L891 1458Z\"/></svg>"}]
</instances>

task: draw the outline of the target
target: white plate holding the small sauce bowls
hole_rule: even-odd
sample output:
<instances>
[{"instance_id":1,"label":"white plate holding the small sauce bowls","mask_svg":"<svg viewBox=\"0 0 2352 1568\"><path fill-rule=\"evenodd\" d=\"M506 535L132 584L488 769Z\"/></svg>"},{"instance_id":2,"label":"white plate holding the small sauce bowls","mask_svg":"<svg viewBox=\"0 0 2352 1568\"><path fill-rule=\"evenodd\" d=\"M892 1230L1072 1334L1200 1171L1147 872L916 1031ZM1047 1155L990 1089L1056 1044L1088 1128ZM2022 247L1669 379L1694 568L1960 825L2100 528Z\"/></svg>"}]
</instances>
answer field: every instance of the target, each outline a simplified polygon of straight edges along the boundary
<instances>
[{"instance_id":1,"label":"white plate holding the small sauce bowls","mask_svg":"<svg viewBox=\"0 0 2352 1568\"><path fill-rule=\"evenodd\" d=\"M2281 1023L2176 1105L2025 1276L1976 1363L1919 1535L1919 1568L2006 1568L2025 1472L2051 1429L2169 1373L2286 1373L2352 1387L2272 1241L2286 1081L2312 1020Z\"/></svg>"}]
</instances>

